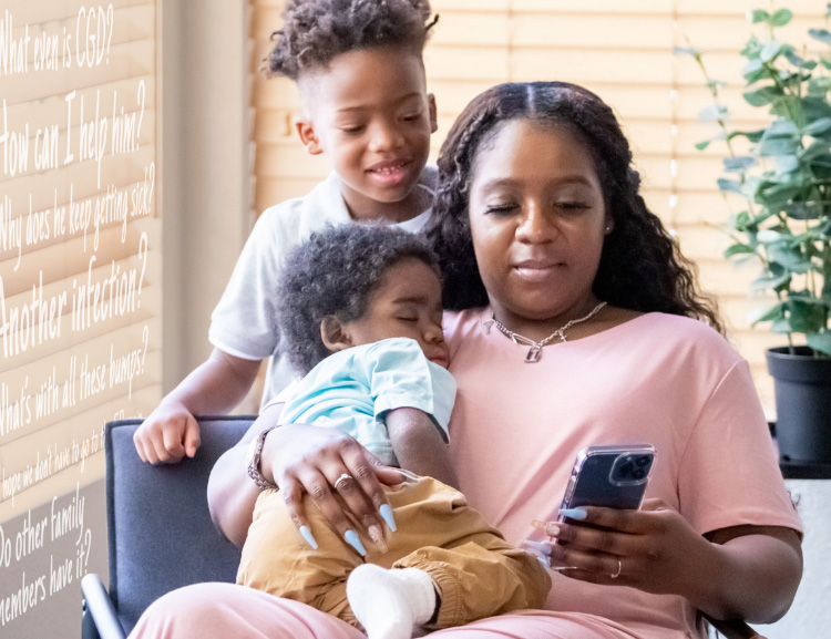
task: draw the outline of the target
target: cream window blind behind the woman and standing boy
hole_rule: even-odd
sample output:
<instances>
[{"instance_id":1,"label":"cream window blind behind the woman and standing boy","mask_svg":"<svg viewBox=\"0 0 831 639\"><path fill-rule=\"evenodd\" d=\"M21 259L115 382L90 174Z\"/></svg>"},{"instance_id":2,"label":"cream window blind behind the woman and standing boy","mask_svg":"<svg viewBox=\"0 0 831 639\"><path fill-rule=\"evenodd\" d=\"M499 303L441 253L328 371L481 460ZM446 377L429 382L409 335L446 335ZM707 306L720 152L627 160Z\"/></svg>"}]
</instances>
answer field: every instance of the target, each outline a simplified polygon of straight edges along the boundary
<instances>
[{"instance_id":1,"label":"cream window blind behind the woman and standing boy","mask_svg":"<svg viewBox=\"0 0 831 639\"><path fill-rule=\"evenodd\" d=\"M700 269L706 290L717 295L730 338L749 360L767 409L772 381L765 349L780 341L749 327L746 315L760 303L748 298L752 268L737 269L721 257L728 246L718 228L729 209L716 187L721 173L717 145L695 144L714 134L699 122L710 104L699 69L674 54L687 41L705 52L710 74L726 82L725 101L733 123L748 127L766 117L743 103L739 51L750 33L745 0L433 0L440 14L427 45L428 89L437 96L439 131L433 159L464 105L486 87L507 81L563 80L596 92L617 112L635 152L644 195L653 212L679 238ZM280 24L283 0L254 0L253 69ZM763 9L770 9L765 3ZM784 35L807 42L823 24L824 2L797 0ZM256 141L255 206L307 193L328 172L325 157L305 154L291 126L297 92L285 79L254 78Z\"/></svg>"}]
</instances>

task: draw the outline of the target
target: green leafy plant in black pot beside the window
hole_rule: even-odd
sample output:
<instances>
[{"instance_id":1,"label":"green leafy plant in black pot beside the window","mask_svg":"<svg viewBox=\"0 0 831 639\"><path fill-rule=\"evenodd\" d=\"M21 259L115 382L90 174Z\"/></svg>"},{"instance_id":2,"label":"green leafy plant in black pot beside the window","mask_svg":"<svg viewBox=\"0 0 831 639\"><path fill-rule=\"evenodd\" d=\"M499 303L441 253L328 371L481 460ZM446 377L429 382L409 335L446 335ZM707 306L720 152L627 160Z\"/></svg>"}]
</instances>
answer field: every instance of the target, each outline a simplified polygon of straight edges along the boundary
<instances>
[{"instance_id":1,"label":"green leafy plant in black pot beside the window","mask_svg":"<svg viewBox=\"0 0 831 639\"><path fill-rule=\"evenodd\" d=\"M827 23L829 17L831 3ZM756 131L732 128L724 85L708 75L699 51L683 49L712 94L714 105L702 116L718 125L714 138L696 146L726 148L726 176L718 186L735 208L725 256L755 261L760 275L751 293L773 293L748 319L768 323L788 341L767 353L780 454L831 464L831 31L811 29L811 51L798 50L777 38L792 19L788 9L751 11L749 19L760 33L741 51L743 97L767 110L769 123Z\"/></svg>"}]
</instances>

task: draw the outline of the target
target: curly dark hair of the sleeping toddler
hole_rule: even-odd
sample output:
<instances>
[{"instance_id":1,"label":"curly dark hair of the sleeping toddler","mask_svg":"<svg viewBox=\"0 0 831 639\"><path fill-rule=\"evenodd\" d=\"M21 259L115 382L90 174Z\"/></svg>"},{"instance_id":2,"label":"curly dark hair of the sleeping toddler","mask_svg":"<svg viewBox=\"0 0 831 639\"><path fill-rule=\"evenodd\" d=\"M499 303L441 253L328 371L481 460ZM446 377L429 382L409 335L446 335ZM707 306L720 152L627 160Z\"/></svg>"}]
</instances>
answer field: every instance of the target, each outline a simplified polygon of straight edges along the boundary
<instances>
[{"instance_id":1,"label":"curly dark hair of the sleeping toddler","mask_svg":"<svg viewBox=\"0 0 831 639\"><path fill-rule=\"evenodd\" d=\"M308 373L329 351L320 337L327 316L342 322L363 317L389 269L423 261L439 277L439 260L416 234L378 224L329 226L289 251L277 288L283 351Z\"/></svg>"}]
</instances>

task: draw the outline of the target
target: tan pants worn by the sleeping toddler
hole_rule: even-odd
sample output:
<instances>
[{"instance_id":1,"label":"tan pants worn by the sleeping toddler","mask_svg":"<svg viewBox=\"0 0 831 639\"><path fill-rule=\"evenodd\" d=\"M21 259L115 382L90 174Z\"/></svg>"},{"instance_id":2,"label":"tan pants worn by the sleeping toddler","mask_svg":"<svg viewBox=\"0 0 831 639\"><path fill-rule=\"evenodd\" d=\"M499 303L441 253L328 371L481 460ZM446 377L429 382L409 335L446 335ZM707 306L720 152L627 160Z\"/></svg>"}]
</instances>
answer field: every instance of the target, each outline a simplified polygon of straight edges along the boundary
<instances>
[{"instance_id":1,"label":"tan pants worn by the sleeping toddler","mask_svg":"<svg viewBox=\"0 0 831 639\"><path fill-rule=\"evenodd\" d=\"M367 556L361 557L307 496L309 527L318 543L312 550L288 516L283 496L264 492L243 548L237 584L308 604L353 626L358 622L347 601L346 580L365 561L428 573L441 597L432 628L543 607L551 588L548 571L534 556L509 545L468 507L459 491L413 476L387 488L387 497L398 530L386 530L389 549L383 554L362 537Z\"/></svg>"}]
</instances>

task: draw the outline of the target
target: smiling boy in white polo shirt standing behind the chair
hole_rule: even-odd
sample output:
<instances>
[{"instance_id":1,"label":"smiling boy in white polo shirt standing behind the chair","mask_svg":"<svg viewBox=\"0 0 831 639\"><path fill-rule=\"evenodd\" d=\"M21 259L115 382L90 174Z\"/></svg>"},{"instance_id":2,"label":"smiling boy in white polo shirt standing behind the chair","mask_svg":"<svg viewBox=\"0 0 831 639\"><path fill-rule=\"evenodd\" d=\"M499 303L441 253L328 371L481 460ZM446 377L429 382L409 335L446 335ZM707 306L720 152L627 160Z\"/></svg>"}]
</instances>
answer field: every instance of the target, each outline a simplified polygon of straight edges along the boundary
<instances>
[{"instance_id":1,"label":"smiling boy in white polo shirt standing behind the chair","mask_svg":"<svg viewBox=\"0 0 831 639\"><path fill-rule=\"evenodd\" d=\"M193 415L233 409L263 358L271 358L264 399L291 379L276 355L279 300L270 296L290 247L326 224L383 218L417 231L430 215L434 172L424 165L437 121L422 60L434 23L428 0L293 0L284 20L267 72L297 82L300 141L307 153L327 154L334 172L260 216L212 316L214 351L136 431L136 451L151 463L193 456Z\"/></svg>"}]
</instances>

